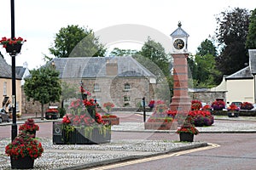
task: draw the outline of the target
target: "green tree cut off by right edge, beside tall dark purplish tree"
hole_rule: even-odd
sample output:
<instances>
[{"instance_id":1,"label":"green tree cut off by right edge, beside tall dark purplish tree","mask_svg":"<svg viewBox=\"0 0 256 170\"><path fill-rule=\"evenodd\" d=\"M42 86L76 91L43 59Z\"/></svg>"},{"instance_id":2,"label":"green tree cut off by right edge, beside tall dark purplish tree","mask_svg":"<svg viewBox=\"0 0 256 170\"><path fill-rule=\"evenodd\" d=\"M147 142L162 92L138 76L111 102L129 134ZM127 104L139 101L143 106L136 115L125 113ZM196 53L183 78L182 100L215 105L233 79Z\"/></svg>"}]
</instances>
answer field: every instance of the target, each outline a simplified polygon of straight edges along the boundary
<instances>
[{"instance_id":1,"label":"green tree cut off by right edge, beside tall dark purplish tree","mask_svg":"<svg viewBox=\"0 0 256 170\"><path fill-rule=\"evenodd\" d=\"M247 49L255 49L256 48L256 8L252 11L252 15L249 18L250 24L247 34Z\"/></svg>"}]
</instances>

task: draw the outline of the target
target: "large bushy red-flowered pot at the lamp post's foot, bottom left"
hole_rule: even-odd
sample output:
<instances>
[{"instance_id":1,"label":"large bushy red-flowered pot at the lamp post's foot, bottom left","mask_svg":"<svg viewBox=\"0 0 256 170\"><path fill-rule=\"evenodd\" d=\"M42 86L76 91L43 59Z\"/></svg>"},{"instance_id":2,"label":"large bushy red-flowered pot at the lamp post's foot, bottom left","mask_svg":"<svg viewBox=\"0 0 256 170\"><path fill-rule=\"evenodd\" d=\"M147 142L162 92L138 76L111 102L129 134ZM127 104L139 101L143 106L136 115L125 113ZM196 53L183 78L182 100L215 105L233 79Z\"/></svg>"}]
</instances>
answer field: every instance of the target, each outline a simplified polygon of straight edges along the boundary
<instances>
[{"instance_id":1,"label":"large bushy red-flowered pot at the lamp post's foot, bottom left","mask_svg":"<svg viewBox=\"0 0 256 170\"><path fill-rule=\"evenodd\" d=\"M33 168L34 160L42 156L43 146L27 131L20 131L19 135L5 147L5 153L10 156L11 168Z\"/></svg>"}]
</instances>

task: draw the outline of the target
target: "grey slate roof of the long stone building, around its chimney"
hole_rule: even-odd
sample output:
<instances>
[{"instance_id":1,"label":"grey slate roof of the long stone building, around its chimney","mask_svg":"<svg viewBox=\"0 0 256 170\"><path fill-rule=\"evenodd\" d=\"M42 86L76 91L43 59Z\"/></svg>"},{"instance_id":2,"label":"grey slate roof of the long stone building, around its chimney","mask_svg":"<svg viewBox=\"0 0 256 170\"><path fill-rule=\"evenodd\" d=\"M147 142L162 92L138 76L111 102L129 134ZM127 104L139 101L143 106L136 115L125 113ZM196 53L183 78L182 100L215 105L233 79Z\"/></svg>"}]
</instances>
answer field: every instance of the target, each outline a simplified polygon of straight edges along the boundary
<instances>
[{"instance_id":1,"label":"grey slate roof of the long stone building, around its chimney","mask_svg":"<svg viewBox=\"0 0 256 170\"><path fill-rule=\"evenodd\" d=\"M107 77L107 63L118 65L116 77L155 77L131 56L55 58L49 62L49 65L52 62L55 64L55 69L60 71L60 78Z\"/></svg>"}]
</instances>

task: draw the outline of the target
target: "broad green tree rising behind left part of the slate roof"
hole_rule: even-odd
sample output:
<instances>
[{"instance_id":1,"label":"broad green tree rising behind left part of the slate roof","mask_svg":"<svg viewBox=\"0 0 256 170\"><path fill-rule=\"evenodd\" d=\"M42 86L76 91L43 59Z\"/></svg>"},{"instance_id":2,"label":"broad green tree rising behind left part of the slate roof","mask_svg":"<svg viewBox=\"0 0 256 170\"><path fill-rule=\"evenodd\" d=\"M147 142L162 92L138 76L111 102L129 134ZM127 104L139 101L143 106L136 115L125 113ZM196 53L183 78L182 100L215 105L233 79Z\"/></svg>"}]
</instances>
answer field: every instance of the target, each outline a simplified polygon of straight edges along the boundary
<instances>
[{"instance_id":1,"label":"broad green tree rising behind left part of the slate roof","mask_svg":"<svg viewBox=\"0 0 256 170\"><path fill-rule=\"evenodd\" d=\"M62 27L55 35L54 45L49 53L57 58L104 56L106 48L95 37L91 29L79 26Z\"/></svg>"}]
</instances>

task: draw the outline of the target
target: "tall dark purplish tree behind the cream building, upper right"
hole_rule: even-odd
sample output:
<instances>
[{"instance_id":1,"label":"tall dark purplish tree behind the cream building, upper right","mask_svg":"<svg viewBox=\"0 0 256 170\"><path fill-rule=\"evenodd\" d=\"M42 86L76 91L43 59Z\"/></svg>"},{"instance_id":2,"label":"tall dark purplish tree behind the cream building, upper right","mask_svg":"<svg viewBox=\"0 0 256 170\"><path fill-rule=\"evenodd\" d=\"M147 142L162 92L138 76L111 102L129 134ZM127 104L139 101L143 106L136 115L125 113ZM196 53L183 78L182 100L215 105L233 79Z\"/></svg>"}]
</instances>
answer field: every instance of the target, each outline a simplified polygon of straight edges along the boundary
<instances>
[{"instance_id":1,"label":"tall dark purplish tree behind the cream building, upper right","mask_svg":"<svg viewBox=\"0 0 256 170\"><path fill-rule=\"evenodd\" d=\"M221 46L221 52L216 58L218 70L230 75L244 68L248 62L245 43L249 14L247 9L234 8L222 12L216 20L216 37Z\"/></svg>"}]
</instances>

